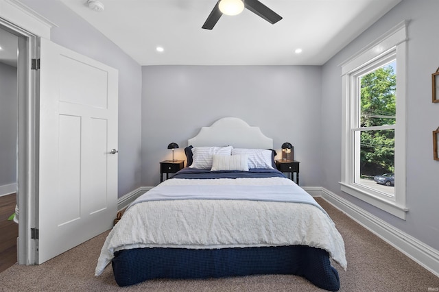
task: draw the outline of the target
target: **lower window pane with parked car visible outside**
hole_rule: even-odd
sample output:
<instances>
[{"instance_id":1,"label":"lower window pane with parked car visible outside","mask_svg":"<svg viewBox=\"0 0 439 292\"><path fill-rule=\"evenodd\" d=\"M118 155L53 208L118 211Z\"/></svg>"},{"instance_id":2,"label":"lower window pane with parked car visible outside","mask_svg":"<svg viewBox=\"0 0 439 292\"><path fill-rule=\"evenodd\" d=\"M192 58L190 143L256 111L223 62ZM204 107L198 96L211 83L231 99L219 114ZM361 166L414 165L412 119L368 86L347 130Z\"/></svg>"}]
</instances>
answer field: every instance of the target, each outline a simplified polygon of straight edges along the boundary
<instances>
[{"instance_id":1,"label":"lower window pane with parked car visible outside","mask_svg":"<svg viewBox=\"0 0 439 292\"><path fill-rule=\"evenodd\" d=\"M361 131L355 182L394 196L394 130ZM380 176L381 175L381 176Z\"/></svg>"}]
</instances>

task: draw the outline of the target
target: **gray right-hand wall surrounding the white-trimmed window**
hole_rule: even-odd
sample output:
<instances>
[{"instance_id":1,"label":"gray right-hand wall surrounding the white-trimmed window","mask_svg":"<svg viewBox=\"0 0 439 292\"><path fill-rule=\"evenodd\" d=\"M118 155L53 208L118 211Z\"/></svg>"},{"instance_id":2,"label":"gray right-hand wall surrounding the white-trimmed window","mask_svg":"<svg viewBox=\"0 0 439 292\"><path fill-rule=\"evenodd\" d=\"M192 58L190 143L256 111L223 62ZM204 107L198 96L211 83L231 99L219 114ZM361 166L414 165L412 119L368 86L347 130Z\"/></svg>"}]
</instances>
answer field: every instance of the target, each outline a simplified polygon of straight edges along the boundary
<instances>
[{"instance_id":1,"label":"gray right-hand wall surrounding the white-trimmed window","mask_svg":"<svg viewBox=\"0 0 439 292\"><path fill-rule=\"evenodd\" d=\"M322 70L321 185L371 212L396 228L439 250L439 162L433 160L431 132L439 126L439 104L431 103L431 73L439 66L439 1L403 0L382 19L333 57ZM340 191L342 86L339 64L366 47L394 25L407 28L407 212L393 217Z\"/></svg>"}]
</instances>

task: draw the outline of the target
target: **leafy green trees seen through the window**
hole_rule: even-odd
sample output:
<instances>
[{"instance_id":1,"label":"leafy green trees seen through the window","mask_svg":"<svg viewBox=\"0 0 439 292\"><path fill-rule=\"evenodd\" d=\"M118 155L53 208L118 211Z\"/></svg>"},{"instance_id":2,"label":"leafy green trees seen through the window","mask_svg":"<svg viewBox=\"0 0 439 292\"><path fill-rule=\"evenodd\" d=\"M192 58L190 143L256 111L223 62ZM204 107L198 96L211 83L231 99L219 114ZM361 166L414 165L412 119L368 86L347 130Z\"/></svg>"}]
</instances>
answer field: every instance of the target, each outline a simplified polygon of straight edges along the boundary
<instances>
[{"instance_id":1,"label":"leafy green trees seen through the window","mask_svg":"<svg viewBox=\"0 0 439 292\"><path fill-rule=\"evenodd\" d=\"M360 178L394 172L396 62L359 77ZM364 181L363 181L364 182ZM393 188L385 193L394 195Z\"/></svg>"}]
</instances>

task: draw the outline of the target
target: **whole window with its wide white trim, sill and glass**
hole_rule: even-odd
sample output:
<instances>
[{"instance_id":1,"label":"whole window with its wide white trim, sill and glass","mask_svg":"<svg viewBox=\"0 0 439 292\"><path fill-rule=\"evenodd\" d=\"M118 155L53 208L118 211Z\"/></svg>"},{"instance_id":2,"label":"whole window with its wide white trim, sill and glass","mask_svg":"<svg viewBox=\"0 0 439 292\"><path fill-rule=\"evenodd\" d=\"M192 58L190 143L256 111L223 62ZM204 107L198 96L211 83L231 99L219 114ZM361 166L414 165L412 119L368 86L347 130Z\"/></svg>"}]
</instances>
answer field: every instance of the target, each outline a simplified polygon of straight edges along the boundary
<instances>
[{"instance_id":1,"label":"whole window with its wide white trim, sill and glass","mask_svg":"<svg viewBox=\"0 0 439 292\"><path fill-rule=\"evenodd\" d=\"M342 64L342 191L405 219L405 23Z\"/></svg>"}]
</instances>

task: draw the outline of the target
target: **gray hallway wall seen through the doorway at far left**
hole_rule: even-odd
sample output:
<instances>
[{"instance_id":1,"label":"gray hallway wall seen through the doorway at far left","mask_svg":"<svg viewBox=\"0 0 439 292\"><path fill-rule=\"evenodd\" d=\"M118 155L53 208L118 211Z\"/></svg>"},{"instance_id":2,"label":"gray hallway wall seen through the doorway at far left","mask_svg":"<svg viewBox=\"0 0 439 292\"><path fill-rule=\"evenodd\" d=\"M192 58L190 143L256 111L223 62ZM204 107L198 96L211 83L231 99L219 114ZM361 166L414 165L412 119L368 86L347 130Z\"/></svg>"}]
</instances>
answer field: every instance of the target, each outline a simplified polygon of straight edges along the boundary
<instances>
[{"instance_id":1,"label":"gray hallway wall seen through the doorway at far left","mask_svg":"<svg viewBox=\"0 0 439 292\"><path fill-rule=\"evenodd\" d=\"M17 112L16 67L0 62L0 186L16 183Z\"/></svg>"}]
</instances>

